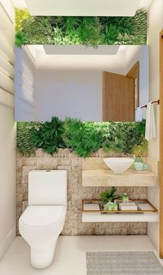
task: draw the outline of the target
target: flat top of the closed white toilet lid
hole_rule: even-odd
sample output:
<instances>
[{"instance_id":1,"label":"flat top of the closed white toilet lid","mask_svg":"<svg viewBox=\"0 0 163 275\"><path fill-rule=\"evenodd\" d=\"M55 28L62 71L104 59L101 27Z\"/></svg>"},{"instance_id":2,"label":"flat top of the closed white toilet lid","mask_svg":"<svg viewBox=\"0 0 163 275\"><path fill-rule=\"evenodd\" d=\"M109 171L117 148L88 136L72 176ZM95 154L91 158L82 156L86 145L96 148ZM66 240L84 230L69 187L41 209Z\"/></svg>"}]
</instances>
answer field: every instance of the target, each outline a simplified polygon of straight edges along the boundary
<instances>
[{"instance_id":1,"label":"flat top of the closed white toilet lid","mask_svg":"<svg viewBox=\"0 0 163 275\"><path fill-rule=\"evenodd\" d=\"M26 226L50 226L61 222L66 215L66 206L28 206L19 221Z\"/></svg>"}]
</instances>

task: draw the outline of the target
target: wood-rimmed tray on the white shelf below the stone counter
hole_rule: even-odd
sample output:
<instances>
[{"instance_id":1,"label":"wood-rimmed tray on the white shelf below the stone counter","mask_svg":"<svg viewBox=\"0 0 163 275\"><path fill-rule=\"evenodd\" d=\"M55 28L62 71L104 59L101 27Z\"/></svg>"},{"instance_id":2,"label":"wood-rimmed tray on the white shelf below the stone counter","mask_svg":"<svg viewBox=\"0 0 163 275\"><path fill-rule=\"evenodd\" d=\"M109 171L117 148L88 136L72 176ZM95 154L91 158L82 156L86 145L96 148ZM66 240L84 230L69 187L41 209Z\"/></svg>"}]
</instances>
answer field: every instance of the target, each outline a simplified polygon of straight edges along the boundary
<instances>
[{"instance_id":1,"label":"wood-rimmed tray on the white shelf below the stone counter","mask_svg":"<svg viewBox=\"0 0 163 275\"><path fill-rule=\"evenodd\" d=\"M137 210L119 210L119 203L122 203L122 201L117 200L118 210L104 210L102 202L102 199L83 199L82 200L82 212L83 213L106 213L106 214L115 214L115 213L153 213L157 212L157 209L155 206L153 206L147 199L129 199L129 202L134 202L137 204ZM91 210L91 204L93 205L95 210ZM146 205L148 209L141 209ZM87 210L84 208L84 205L87 205ZM90 209L88 209L90 208ZM99 208L99 209L98 209Z\"/></svg>"}]
</instances>

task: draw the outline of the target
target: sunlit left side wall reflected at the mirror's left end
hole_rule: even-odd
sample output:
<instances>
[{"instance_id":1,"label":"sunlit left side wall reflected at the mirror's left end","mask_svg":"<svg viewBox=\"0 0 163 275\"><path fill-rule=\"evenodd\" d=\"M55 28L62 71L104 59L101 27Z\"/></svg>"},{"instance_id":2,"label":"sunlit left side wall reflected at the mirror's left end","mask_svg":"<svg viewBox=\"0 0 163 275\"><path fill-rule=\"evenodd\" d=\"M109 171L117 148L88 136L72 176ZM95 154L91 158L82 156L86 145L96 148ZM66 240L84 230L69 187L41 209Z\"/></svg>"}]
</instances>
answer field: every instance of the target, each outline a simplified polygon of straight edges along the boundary
<instances>
[{"instance_id":1,"label":"sunlit left side wall reflected at the mirror's left end","mask_svg":"<svg viewBox=\"0 0 163 275\"><path fill-rule=\"evenodd\" d=\"M15 120L35 121L35 59L28 47L15 47Z\"/></svg>"}]
</instances>

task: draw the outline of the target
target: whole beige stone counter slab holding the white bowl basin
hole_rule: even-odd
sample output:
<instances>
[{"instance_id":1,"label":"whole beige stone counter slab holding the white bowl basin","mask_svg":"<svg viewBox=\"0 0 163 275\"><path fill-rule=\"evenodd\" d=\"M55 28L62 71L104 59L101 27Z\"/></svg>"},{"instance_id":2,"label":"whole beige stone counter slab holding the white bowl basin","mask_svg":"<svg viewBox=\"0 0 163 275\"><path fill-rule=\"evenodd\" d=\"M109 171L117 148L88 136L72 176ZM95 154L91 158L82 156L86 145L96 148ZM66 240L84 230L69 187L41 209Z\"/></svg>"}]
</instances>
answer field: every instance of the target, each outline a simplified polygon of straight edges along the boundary
<instances>
[{"instance_id":1,"label":"whole beige stone counter slab holding the white bowl basin","mask_svg":"<svg viewBox=\"0 0 163 275\"><path fill-rule=\"evenodd\" d=\"M115 174L104 164L103 158L86 158L82 163L83 186L156 186L158 184L158 163L144 158L150 172L137 173L133 169Z\"/></svg>"}]
</instances>

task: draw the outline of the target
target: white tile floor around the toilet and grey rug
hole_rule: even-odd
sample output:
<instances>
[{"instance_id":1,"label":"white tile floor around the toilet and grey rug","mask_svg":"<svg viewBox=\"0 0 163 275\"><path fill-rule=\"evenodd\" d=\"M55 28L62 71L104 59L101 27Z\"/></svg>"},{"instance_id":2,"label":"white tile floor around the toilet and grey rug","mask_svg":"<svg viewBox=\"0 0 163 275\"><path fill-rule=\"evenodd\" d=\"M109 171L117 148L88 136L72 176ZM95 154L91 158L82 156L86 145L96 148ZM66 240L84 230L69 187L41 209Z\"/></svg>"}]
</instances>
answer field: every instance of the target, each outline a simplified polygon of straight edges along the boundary
<instances>
[{"instance_id":1,"label":"white tile floor around the toilet and grey rug","mask_svg":"<svg viewBox=\"0 0 163 275\"><path fill-rule=\"evenodd\" d=\"M86 251L154 251L157 255L148 236L60 236L52 265L37 270L30 266L30 247L17 237L0 262L0 275L86 275Z\"/></svg>"}]
</instances>

